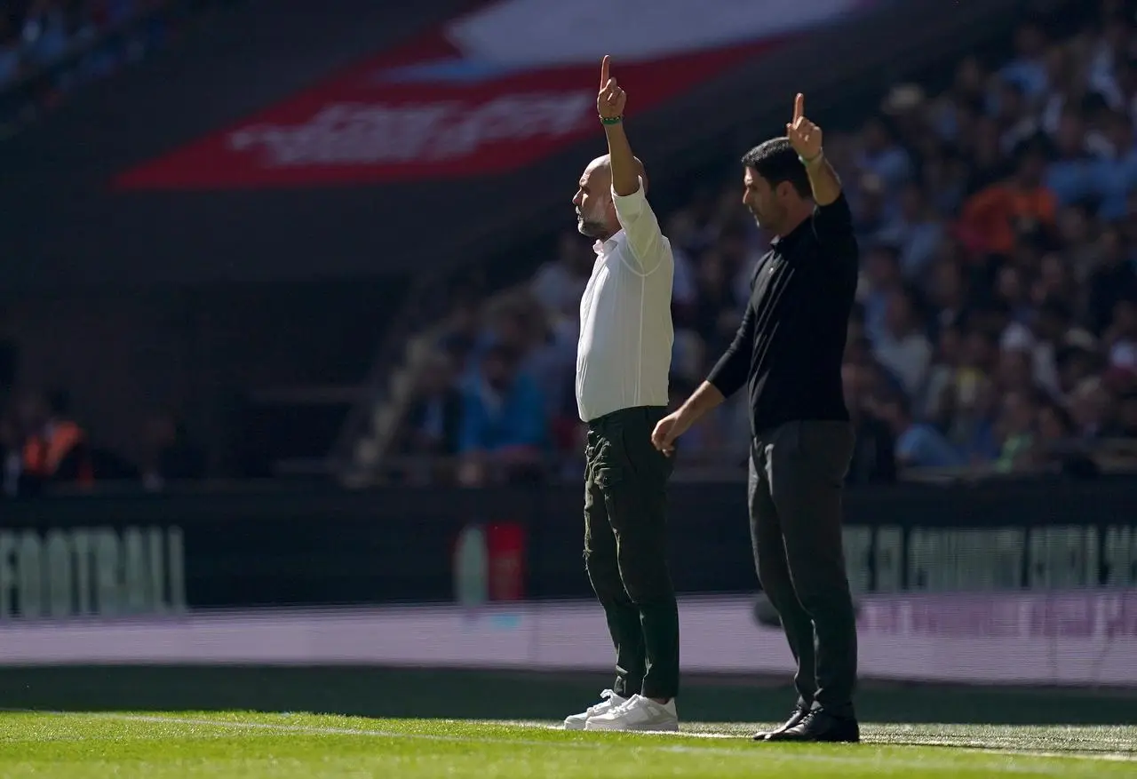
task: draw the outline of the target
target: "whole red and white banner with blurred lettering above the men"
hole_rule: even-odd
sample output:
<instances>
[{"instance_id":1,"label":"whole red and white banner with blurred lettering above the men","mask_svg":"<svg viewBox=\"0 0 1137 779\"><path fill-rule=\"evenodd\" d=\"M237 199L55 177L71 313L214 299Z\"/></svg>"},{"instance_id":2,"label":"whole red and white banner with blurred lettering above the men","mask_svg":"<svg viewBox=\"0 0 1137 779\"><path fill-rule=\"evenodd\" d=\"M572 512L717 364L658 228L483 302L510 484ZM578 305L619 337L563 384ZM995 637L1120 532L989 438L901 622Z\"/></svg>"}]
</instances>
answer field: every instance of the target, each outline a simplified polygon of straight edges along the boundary
<instances>
[{"instance_id":1,"label":"whole red and white banner with blurred lettering above the men","mask_svg":"<svg viewBox=\"0 0 1137 779\"><path fill-rule=\"evenodd\" d=\"M622 38L624 58L620 47L612 53L630 110L640 115L789 36L873 2L731 0L735 10L724 16L700 6L699 17L714 22L699 25L697 41L687 17L653 11L644 19L649 25L637 25L636 41ZM454 179L515 171L590 134L603 139L595 84L599 53L608 49L592 57L572 35L553 47L540 38L549 30L511 26L548 5L511 0L450 19L402 49L127 171L115 185L232 189ZM570 16L574 24L584 18L580 9Z\"/></svg>"}]
</instances>

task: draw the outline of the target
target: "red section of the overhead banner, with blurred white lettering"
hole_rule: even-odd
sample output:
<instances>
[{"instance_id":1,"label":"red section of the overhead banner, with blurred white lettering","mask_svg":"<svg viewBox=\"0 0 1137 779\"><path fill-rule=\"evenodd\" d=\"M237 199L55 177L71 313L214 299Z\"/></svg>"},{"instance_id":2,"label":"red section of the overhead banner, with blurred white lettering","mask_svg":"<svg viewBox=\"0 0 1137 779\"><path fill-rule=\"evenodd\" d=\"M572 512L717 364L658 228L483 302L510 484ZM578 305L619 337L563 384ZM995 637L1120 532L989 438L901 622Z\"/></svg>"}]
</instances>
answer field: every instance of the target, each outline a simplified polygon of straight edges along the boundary
<instances>
[{"instance_id":1,"label":"red section of the overhead banner, with blurred white lettering","mask_svg":"<svg viewBox=\"0 0 1137 779\"><path fill-rule=\"evenodd\" d=\"M613 75L634 115L771 45L767 40L650 63L616 60ZM484 175L599 132L599 61L492 76L390 77L407 66L438 67L440 59L445 68L442 58L455 56L434 34L128 171L115 184L231 189Z\"/></svg>"}]
</instances>

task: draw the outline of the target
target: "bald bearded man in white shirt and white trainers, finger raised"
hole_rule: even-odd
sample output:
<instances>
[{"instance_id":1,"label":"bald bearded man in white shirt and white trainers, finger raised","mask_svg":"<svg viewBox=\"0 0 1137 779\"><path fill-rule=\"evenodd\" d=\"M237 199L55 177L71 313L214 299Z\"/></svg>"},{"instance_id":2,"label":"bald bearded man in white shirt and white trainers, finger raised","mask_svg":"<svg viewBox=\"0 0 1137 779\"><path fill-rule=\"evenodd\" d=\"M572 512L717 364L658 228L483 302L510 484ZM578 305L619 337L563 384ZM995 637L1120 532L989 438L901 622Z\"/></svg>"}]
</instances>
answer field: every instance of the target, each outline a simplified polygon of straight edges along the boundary
<instances>
[{"instance_id":1,"label":"bald bearded man in white shirt and white trainers, finger raised","mask_svg":"<svg viewBox=\"0 0 1137 779\"><path fill-rule=\"evenodd\" d=\"M671 243L647 204L623 130L626 97L604 58L597 110L608 154L573 198L597 239L580 303L576 405L588 423L584 561L616 647L616 681L570 730L678 730L679 611L666 561L671 459L652 445L667 406L673 330Z\"/></svg>"}]
</instances>

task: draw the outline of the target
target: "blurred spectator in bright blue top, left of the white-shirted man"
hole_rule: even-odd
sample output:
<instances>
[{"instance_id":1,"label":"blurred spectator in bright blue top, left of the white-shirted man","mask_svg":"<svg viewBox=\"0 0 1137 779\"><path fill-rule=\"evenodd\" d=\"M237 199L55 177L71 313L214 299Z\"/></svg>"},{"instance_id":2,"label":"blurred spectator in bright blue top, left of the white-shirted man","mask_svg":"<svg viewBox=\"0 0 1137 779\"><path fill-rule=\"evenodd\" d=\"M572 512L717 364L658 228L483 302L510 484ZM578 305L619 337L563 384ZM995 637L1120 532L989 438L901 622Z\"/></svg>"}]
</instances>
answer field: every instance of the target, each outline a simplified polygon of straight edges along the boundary
<instances>
[{"instance_id":1,"label":"blurred spectator in bright blue top, left of the white-shirted man","mask_svg":"<svg viewBox=\"0 0 1137 779\"><path fill-rule=\"evenodd\" d=\"M458 450L466 486L529 480L540 473L547 440L545 398L520 370L521 355L490 346L463 392Z\"/></svg>"}]
</instances>

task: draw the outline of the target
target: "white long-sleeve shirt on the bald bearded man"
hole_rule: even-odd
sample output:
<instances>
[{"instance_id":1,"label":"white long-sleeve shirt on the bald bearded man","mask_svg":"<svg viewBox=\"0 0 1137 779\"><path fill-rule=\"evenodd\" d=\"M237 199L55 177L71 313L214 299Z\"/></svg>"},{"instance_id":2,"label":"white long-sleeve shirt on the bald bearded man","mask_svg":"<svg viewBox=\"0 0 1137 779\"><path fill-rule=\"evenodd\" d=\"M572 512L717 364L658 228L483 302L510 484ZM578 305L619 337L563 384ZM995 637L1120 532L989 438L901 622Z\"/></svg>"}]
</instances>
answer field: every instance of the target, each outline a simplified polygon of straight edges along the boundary
<instances>
[{"instance_id":1,"label":"white long-sleeve shirt on the bald bearded man","mask_svg":"<svg viewBox=\"0 0 1137 779\"><path fill-rule=\"evenodd\" d=\"M596 242L580 300L576 407L590 422L623 408L667 405L671 368L671 242L644 196L612 198L622 230Z\"/></svg>"}]
</instances>

